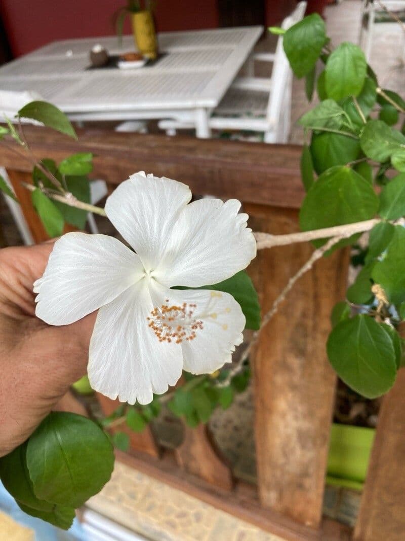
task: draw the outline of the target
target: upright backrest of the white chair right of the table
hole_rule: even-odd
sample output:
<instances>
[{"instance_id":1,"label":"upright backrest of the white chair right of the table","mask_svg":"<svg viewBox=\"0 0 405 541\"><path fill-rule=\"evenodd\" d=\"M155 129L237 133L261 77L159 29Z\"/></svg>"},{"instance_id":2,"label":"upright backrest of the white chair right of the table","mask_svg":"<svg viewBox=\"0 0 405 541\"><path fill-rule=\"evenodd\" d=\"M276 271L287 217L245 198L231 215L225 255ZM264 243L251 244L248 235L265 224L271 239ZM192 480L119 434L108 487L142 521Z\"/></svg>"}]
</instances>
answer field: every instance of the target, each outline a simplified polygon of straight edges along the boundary
<instances>
[{"instance_id":1,"label":"upright backrest of the white chair right of the table","mask_svg":"<svg viewBox=\"0 0 405 541\"><path fill-rule=\"evenodd\" d=\"M294 24L301 21L305 14L306 7L306 2L299 2L292 14L286 17L281 23L281 28L288 30ZM275 49L271 92L267 105L267 120L274 124L274 126L278 125L283 105L286 101L288 102L288 96L291 96L291 85L292 71L284 52L282 36L279 36ZM291 107L289 103L286 103L286 106Z\"/></svg>"}]
</instances>

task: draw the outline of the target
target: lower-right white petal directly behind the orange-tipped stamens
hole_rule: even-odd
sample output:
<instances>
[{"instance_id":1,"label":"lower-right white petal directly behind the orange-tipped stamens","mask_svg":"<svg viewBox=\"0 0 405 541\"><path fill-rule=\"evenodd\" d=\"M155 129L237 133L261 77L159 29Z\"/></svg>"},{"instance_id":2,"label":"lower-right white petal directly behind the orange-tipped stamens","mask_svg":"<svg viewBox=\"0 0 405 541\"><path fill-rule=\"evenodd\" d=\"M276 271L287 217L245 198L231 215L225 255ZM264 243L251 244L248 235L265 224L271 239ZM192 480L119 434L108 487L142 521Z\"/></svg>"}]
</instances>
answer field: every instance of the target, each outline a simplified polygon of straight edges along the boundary
<instances>
[{"instance_id":1,"label":"lower-right white petal directly behind the orange-tipped stamens","mask_svg":"<svg viewBox=\"0 0 405 541\"><path fill-rule=\"evenodd\" d=\"M165 289L157 282L151 287L153 303L157 306L182 306L193 314L190 319L201 321L203 328L195 331L195 338L181 341L184 370L193 374L214 372L231 362L235 346L243 341L246 319L232 295L208 289ZM168 301L168 302L167 302ZM197 305L190 307L190 305Z\"/></svg>"}]
</instances>

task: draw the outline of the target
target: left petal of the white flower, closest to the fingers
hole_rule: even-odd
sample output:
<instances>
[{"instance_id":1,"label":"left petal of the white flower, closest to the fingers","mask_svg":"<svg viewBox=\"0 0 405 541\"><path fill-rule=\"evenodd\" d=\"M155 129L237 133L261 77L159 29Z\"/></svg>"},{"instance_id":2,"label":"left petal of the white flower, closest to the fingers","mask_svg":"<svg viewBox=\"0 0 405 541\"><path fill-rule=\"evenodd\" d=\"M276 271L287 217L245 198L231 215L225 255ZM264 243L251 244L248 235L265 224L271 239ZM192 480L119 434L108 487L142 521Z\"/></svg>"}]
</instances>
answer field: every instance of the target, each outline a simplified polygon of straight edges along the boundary
<instances>
[{"instance_id":1,"label":"left petal of the white flower, closest to the fingers","mask_svg":"<svg viewBox=\"0 0 405 541\"><path fill-rule=\"evenodd\" d=\"M144 275L139 256L114 237L67 233L55 242L38 293L36 315L68 325L111 302Z\"/></svg>"}]
</instances>

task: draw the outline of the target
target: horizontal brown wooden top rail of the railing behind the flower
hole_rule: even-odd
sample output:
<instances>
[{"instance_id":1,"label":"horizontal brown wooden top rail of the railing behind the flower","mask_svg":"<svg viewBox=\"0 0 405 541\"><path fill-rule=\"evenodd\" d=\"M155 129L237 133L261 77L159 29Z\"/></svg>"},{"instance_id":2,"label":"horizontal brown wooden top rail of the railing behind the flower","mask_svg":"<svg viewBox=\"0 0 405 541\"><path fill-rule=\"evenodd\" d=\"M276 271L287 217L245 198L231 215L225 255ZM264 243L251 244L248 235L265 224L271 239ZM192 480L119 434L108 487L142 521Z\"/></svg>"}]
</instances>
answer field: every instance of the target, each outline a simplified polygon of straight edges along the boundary
<instances>
[{"instance_id":1,"label":"horizontal brown wooden top rail of the railing behind the flower","mask_svg":"<svg viewBox=\"0 0 405 541\"><path fill-rule=\"evenodd\" d=\"M167 137L78 130L79 141L36 126L24 127L32 153L57 162L77 152L95 155L93 178L118 184L139 170L185 182L195 194L235 197L240 201L299 208L305 192L300 176L301 147L194 137ZM0 143L4 167L31 171Z\"/></svg>"}]
</instances>

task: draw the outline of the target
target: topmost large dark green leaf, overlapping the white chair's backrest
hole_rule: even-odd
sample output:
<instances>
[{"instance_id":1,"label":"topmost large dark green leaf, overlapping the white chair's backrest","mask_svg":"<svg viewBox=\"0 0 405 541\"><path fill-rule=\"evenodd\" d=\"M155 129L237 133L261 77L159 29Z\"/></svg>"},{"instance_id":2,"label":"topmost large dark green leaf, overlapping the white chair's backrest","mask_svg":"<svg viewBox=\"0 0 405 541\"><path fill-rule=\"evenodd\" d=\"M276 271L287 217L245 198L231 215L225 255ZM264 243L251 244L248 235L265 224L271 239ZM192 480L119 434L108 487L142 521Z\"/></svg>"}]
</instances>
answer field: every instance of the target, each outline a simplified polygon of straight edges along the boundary
<instances>
[{"instance_id":1,"label":"topmost large dark green leaf, overlapping the white chair's backrest","mask_svg":"<svg viewBox=\"0 0 405 541\"><path fill-rule=\"evenodd\" d=\"M297 77L307 75L314 68L325 41L325 22L317 13L305 17L286 31L284 51Z\"/></svg>"}]
</instances>

